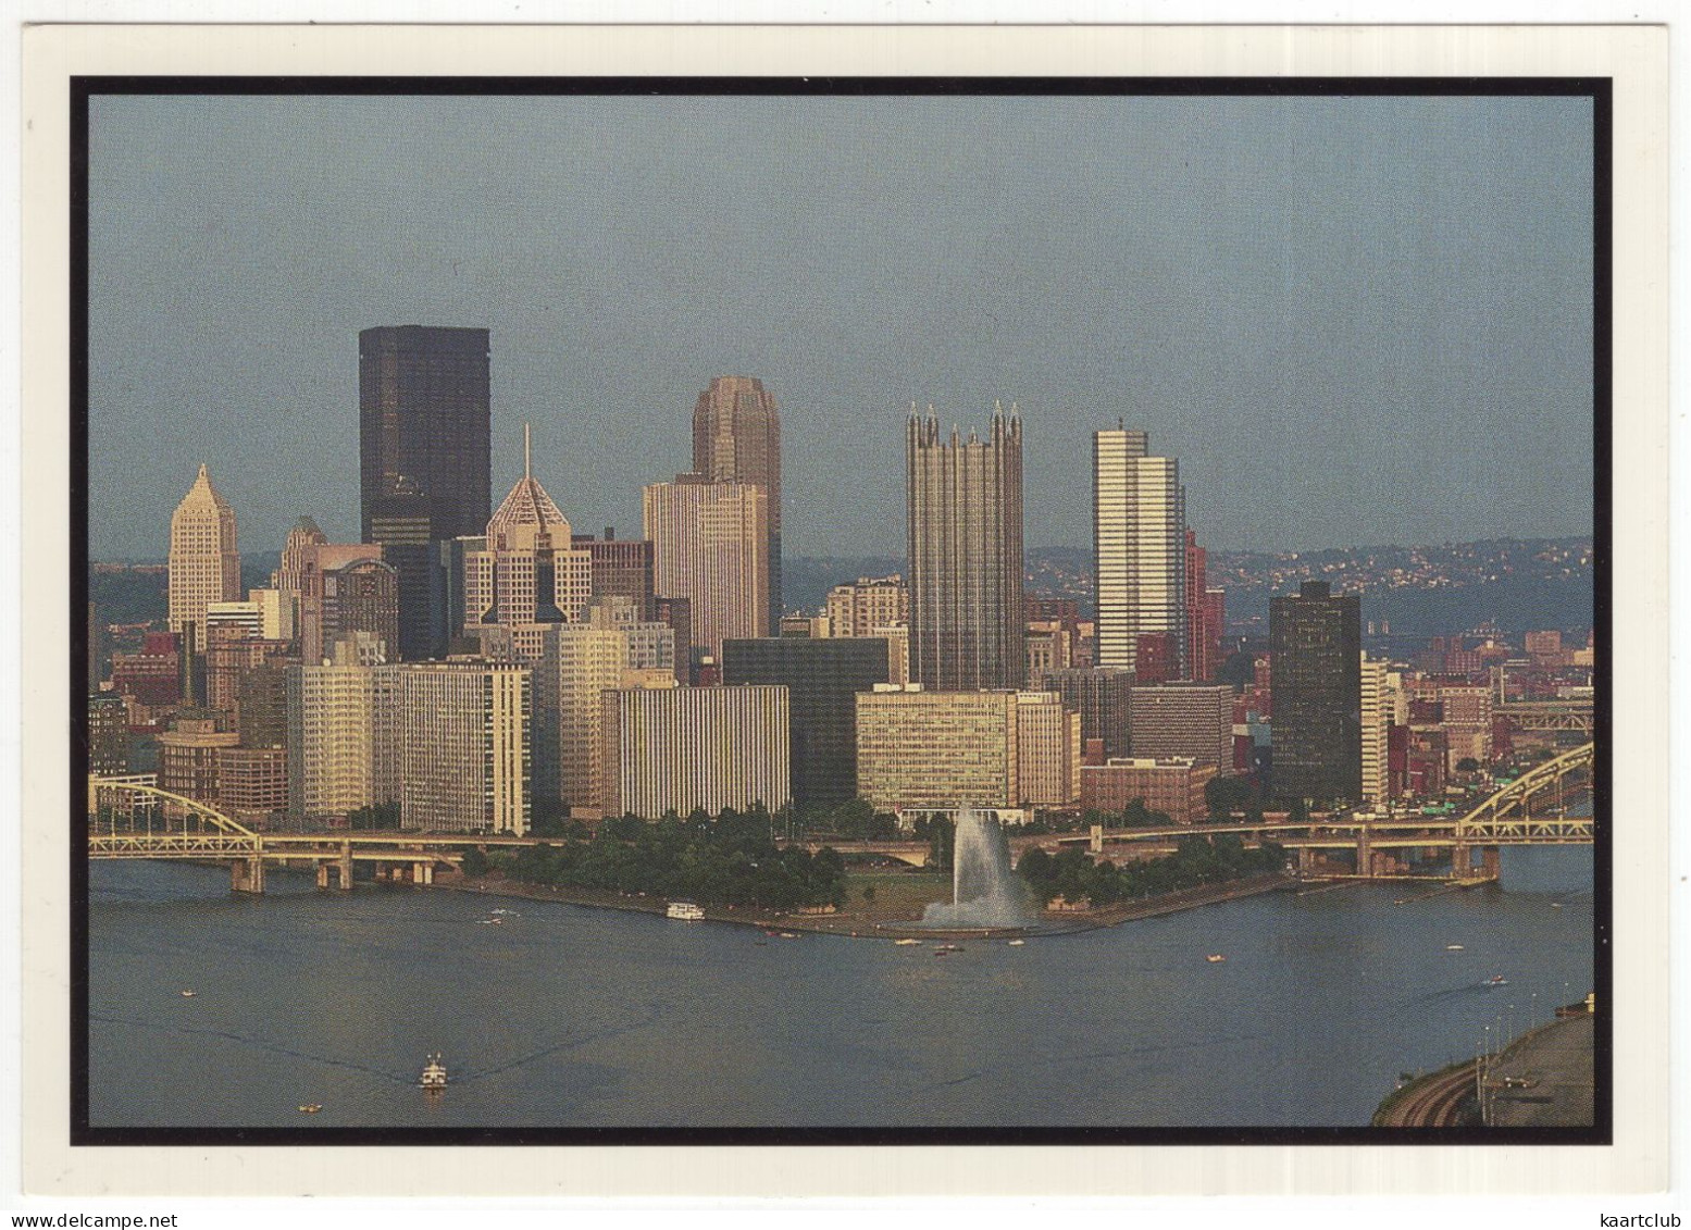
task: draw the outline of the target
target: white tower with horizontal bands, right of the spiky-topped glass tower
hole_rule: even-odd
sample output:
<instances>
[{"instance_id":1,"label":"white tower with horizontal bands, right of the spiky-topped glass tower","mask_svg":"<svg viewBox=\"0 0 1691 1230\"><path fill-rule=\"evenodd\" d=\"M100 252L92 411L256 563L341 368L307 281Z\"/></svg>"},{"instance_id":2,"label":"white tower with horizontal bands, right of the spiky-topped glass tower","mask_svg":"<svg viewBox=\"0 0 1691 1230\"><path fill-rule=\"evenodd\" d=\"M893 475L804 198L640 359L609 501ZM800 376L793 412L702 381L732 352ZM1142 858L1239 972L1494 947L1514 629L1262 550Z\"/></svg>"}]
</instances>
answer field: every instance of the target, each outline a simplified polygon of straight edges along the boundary
<instances>
[{"instance_id":1,"label":"white tower with horizontal bands, right of the spiky-topped glass tower","mask_svg":"<svg viewBox=\"0 0 1691 1230\"><path fill-rule=\"evenodd\" d=\"M1092 433L1092 552L1097 565L1094 665L1140 668L1145 636L1185 656L1185 491L1180 462L1150 457L1145 431Z\"/></svg>"}]
</instances>

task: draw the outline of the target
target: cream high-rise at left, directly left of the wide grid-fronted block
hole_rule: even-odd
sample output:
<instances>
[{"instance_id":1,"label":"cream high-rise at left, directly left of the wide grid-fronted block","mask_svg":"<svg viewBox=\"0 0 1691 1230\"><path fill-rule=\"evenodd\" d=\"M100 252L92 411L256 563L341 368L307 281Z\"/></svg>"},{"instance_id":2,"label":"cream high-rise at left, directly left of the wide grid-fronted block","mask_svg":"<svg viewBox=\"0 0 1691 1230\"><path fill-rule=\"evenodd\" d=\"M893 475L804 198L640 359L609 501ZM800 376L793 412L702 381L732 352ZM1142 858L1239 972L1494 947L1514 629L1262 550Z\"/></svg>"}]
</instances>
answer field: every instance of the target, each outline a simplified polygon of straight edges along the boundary
<instances>
[{"instance_id":1,"label":"cream high-rise at left, directly left of the wide grid-fronted block","mask_svg":"<svg viewBox=\"0 0 1691 1230\"><path fill-rule=\"evenodd\" d=\"M375 802L370 782L370 667L353 641L328 662L287 668L287 812L325 827Z\"/></svg>"}]
</instances>

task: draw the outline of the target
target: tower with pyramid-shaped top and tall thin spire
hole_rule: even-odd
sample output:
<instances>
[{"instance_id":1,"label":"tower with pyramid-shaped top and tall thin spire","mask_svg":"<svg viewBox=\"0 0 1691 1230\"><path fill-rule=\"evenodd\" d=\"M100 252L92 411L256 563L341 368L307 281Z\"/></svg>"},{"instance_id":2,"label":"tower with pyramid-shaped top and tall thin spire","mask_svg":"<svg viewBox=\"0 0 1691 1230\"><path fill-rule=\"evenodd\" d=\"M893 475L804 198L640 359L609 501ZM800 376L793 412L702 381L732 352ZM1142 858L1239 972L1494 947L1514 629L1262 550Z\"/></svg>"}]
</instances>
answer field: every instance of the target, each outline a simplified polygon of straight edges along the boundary
<instances>
[{"instance_id":1,"label":"tower with pyramid-shaped top and tall thin spire","mask_svg":"<svg viewBox=\"0 0 1691 1230\"><path fill-rule=\"evenodd\" d=\"M539 660L546 624L577 623L592 596L592 558L570 545L570 523L529 467L523 428L523 477L487 523L487 546L463 557L463 629L512 629L517 662Z\"/></svg>"}]
</instances>

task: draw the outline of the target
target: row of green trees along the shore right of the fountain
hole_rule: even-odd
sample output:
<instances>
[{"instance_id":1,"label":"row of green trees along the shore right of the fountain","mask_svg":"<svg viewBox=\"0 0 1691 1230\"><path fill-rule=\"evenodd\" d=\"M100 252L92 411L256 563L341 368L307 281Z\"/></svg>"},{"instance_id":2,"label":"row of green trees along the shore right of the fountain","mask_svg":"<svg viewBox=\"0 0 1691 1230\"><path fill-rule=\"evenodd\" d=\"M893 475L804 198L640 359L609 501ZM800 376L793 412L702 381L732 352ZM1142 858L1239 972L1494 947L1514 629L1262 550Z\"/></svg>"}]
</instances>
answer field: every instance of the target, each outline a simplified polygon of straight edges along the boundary
<instances>
[{"instance_id":1,"label":"row of green trees along the shore right of the fountain","mask_svg":"<svg viewBox=\"0 0 1691 1230\"><path fill-rule=\"evenodd\" d=\"M1021 856L1016 871L1028 881L1042 905L1057 897L1069 902L1091 898L1092 905L1113 905L1201 885L1228 883L1278 871L1282 866L1285 851L1272 841L1265 841L1260 849L1246 849L1238 834L1219 832L1182 837L1174 854L1119 868L1106 859L1094 863L1082 849L1047 854L1035 848Z\"/></svg>"}]
</instances>

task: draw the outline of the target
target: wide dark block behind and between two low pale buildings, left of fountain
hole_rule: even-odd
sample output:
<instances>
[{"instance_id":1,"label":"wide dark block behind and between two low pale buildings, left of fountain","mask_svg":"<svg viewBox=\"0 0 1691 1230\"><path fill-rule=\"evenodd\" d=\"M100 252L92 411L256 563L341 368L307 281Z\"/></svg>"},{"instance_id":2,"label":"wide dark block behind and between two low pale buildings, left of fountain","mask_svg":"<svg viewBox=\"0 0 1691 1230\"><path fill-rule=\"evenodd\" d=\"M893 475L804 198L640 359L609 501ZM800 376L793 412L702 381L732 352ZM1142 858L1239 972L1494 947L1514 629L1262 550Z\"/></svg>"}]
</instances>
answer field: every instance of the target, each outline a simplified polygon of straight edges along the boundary
<instances>
[{"instance_id":1,"label":"wide dark block behind and between two low pale buildings, left of fountain","mask_svg":"<svg viewBox=\"0 0 1691 1230\"><path fill-rule=\"evenodd\" d=\"M857 694L888 682L884 640L722 641L722 682L788 689L795 802L844 802L857 795Z\"/></svg>"}]
</instances>

